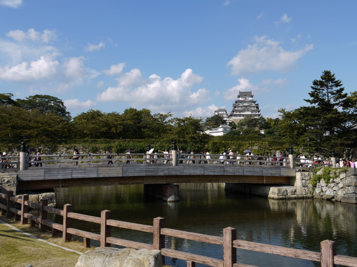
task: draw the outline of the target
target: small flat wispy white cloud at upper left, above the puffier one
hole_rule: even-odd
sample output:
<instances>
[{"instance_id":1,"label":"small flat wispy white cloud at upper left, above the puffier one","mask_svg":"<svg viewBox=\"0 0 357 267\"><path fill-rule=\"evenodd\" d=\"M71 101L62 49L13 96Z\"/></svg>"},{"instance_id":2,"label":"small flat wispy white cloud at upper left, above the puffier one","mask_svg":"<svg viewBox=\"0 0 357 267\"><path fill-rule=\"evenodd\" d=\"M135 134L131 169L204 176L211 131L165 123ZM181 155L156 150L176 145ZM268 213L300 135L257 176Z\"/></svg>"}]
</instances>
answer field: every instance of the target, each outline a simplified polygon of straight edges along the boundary
<instances>
[{"instance_id":1,"label":"small flat wispy white cloud at upper left, above the puffier one","mask_svg":"<svg viewBox=\"0 0 357 267\"><path fill-rule=\"evenodd\" d=\"M21 30L10 31L6 34L6 36L11 37L17 42L31 40L39 41L42 43L48 43L49 41L55 40L57 38L56 30L44 30L41 34L40 32L36 32L35 29L30 29L27 32L23 32Z\"/></svg>"}]
</instances>

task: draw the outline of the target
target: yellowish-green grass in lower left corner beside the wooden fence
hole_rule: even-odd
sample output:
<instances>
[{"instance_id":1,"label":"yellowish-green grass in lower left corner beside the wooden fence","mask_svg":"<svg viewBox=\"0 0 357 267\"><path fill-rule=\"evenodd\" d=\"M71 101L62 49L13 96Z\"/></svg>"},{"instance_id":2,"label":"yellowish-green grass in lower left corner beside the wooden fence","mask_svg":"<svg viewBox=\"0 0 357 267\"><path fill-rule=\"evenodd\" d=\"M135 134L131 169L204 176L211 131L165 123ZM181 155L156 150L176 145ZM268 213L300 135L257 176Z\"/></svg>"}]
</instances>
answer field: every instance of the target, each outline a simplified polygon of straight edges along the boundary
<instances>
[{"instance_id":1,"label":"yellowish-green grass in lower left corner beside the wooden fence","mask_svg":"<svg viewBox=\"0 0 357 267\"><path fill-rule=\"evenodd\" d=\"M47 242L69 248L79 252L90 249L84 248L82 242L64 242L61 237L52 237L49 231L39 232L38 228L31 228L29 224L22 225L13 219L0 216L0 220L24 232L32 234ZM61 236L61 235L59 235ZM69 267L75 266L79 254L69 252L58 247L40 242L23 233L15 231L4 224L0 224L0 265L6 267L24 267L32 264L34 267ZM164 265L163 267L172 267Z\"/></svg>"}]
</instances>

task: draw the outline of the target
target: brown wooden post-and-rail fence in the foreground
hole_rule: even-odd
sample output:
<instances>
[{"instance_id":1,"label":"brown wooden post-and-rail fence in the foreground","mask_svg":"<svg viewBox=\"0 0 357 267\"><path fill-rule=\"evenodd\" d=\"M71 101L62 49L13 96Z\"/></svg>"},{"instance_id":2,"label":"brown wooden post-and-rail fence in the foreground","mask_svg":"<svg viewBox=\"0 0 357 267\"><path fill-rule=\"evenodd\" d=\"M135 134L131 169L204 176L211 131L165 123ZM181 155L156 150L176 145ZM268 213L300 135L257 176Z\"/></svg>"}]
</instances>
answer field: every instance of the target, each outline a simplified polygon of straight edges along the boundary
<instances>
[{"instance_id":1,"label":"brown wooden post-and-rail fence in the foreground","mask_svg":"<svg viewBox=\"0 0 357 267\"><path fill-rule=\"evenodd\" d=\"M237 249L318 261L321 262L321 266L323 267L331 267L334 266L334 264L357 267L357 258L336 255L336 243L329 240L325 240L320 243L320 252L313 252L238 240L236 239L236 229L232 227L224 228L223 237L220 237L166 228L165 219L161 217L155 218L153 225L151 226L112 220L110 210L101 211L100 217L82 215L80 213L73 212L73 207L70 204L64 205L63 210L53 208L47 206L46 199L41 199L40 204L37 204L29 201L29 195L23 195L22 199L14 197L12 191L9 191L7 195L0 194L0 200L1 199L5 199L7 203L6 205L0 204L1 215L5 215L6 213L7 218L14 215L15 220L20 220L22 224L30 223L32 227L35 227L35 223L38 223L38 228L42 232L46 231L46 228L49 227L52 229L53 236L56 236L58 231L62 231L62 238L65 241L70 241L72 234L81 236L83 237L83 243L86 248L90 247L90 239L93 239L100 242L100 247L110 247L114 244L134 249L155 249L161 251L163 260L164 256L179 258L185 260L187 262L187 266L190 267L194 267L196 262L216 267L254 267L252 265L237 263ZM21 209L14 208L14 202L19 203L21 205ZM39 217L30 215L28 213L29 207L39 209ZM63 223L58 224L47 220L48 212L62 216ZM100 224L100 234L72 228L72 219ZM152 233L152 244L144 244L112 237L112 227ZM223 247L223 259L216 259L165 248L165 236L185 238L191 241L220 245Z\"/></svg>"}]
</instances>

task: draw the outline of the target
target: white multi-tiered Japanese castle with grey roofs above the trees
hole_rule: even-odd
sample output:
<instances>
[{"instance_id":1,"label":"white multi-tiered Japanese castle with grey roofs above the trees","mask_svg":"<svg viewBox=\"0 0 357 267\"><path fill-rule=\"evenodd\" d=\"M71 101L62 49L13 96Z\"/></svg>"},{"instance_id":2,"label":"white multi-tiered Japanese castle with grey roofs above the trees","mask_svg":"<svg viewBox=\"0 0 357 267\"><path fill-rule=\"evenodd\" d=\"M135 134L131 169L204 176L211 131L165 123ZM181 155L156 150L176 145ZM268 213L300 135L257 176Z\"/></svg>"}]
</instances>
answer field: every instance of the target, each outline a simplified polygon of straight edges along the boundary
<instances>
[{"instance_id":1,"label":"white multi-tiered Japanese castle with grey roofs above the trees","mask_svg":"<svg viewBox=\"0 0 357 267\"><path fill-rule=\"evenodd\" d=\"M238 99L233 103L233 109L230 115L227 114L225 109L218 109L214 112L215 115L219 114L227 122L238 122L241 119L244 119L246 116L251 118L260 117L259 104L256 103L257 100L253 99L251 91L250 92L241 92L239 91Z\"/></svg>"}]
</instances>

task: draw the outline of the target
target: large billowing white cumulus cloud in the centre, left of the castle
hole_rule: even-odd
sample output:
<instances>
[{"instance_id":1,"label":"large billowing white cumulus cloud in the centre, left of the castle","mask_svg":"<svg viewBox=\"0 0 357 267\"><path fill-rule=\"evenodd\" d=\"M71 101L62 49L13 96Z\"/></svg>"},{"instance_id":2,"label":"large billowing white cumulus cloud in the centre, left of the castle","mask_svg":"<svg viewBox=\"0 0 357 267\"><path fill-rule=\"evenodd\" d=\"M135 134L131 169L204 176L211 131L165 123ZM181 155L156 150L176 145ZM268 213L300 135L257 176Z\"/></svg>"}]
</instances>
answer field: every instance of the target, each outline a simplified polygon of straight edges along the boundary
<instances>
[{"instance_id":1,"label":"large billowing white cumulus cloud in the centre, left of the castle","mask_svg":"<svg viewBox=\"0 0 357 267\"><path fill-rule=\"evenodd\" d=\"M206 102L210 96L205 88L192 92L192 87L203 81L203 77L193 73L192 69L187 69L177 79L161 78L156 74L143 78L139 69L132 69L116 80L118 85L98 94L97 101L129 102L132 106L145 104L156 112L183 112Z\"/></svg>"}]
</instances>

